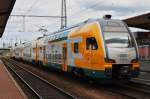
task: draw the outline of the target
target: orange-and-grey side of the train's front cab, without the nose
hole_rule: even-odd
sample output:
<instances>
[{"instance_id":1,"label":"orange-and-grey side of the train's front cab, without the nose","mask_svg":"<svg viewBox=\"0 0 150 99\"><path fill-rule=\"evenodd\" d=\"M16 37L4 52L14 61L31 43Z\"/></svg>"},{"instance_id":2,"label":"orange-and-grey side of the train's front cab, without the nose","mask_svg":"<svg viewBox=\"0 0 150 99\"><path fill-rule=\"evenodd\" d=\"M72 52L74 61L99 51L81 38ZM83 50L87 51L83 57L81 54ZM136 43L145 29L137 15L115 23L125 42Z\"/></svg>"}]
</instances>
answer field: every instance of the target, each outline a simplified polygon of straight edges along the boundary
<instances>
[{"instance_id":1,"label":"orange-and-grey side of the train's front cab, without the nose","mask_svg":"<svg viewBox=\"0 0 150 99\"><path fill-rule=\"evenodd\" d=\"M105 63L105 48L100 31L98 22L93 22L69 34L69 68L90 77L107 78L105 68L111 68L112 65Z\"/></svg>"}]
</instances>

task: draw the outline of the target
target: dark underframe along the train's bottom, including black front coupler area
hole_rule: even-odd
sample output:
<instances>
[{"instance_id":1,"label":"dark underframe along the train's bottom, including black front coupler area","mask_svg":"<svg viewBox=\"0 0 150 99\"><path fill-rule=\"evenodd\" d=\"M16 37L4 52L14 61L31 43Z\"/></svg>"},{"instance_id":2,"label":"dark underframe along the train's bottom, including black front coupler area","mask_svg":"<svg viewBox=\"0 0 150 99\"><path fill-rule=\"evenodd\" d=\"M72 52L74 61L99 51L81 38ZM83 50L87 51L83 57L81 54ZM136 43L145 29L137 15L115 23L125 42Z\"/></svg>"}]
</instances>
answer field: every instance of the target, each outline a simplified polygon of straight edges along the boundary
<instances>
[{"instance_id":1,"label":"dark underframe along the train's bottom, including black front coupler area","mask_svg":"<svg viewBox=\"0 0 150 99\"><path fill-rule=\"evenodd\" d=\"M22 61L23 59L17 59L18 61ZM36 63L34 60L31 61L31 64L33 65L43 65L43 63L40 61ZM55 68L55 66L57 68ZM44 67L48 68L55 68L61 70L61 65L53 64L51 66L50 64L47 64ZM94 79L106 79L106 80L130 80L131 78L136 78L139 75L139 68L136 68L133 70L132 64L112 64L112 68L105 68L105 70L90 70L85 68L77 68L72 66L67 66L68 70L67 72L73 73L77 76L81 77L90 77Z\"/></svg>"}]
</instances>

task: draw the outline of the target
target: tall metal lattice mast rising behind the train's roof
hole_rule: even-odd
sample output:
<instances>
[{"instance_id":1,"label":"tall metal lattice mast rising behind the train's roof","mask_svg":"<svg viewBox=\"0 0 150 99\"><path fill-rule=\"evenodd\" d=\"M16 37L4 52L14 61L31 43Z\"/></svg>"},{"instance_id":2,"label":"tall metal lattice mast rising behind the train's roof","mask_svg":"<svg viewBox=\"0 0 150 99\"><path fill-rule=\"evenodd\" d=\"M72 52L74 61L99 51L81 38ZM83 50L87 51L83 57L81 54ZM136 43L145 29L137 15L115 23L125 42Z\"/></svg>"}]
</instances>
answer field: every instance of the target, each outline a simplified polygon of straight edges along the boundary
<instances>
[{"instance_id":1,"label":"tall metal lattice mast rising behind the train's roof","mask_svg":"<svg viewBox=\"0 0 150 99\"><path fill-rule=\"evenodd\" d=\"M66 0L62 0L61 3L61 29L67 27L67 9L66 9Z\"/></svg>"}]
</instances>

